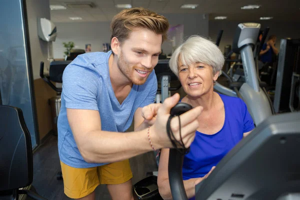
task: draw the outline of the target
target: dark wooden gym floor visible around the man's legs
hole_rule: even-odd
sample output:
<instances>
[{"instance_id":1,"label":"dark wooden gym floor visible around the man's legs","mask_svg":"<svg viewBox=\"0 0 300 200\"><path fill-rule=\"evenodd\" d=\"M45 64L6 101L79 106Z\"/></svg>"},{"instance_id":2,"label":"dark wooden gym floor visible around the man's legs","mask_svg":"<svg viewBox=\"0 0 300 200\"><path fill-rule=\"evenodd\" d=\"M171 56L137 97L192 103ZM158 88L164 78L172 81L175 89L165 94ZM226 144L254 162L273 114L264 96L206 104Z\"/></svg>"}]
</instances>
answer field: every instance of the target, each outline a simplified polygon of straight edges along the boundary
<instances>
[{"instance_id":1,"label":"dark wooden gym floor visible around the man's legs","mask_svg":"<svg viewBox=\"0 0 300 200\"><path fill-rule=\"evenodd\" d=\"M129 161L133 183L146 177L146 172L157 171L153 152L135 156ZM39 195L48 200L70 199L63 193L63 181L56 180L58 171L60 171L60 163L57 136L51 135L33 154L32 185ZM96 199L111 199L105 185L99 185L95 191Z\"/></svg>"}]
</instances>

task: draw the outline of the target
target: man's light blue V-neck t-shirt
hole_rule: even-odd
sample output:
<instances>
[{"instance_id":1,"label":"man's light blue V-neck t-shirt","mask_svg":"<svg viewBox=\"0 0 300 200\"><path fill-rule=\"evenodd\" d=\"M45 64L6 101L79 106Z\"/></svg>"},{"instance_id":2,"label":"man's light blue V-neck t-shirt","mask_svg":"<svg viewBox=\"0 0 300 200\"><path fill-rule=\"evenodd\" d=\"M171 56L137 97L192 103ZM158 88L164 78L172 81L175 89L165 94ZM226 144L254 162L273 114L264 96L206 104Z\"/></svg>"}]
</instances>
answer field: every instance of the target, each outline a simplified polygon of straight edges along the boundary
<instances>
[{"instance_id":1,"label":"man's light blue V-neck t-shirt","mask_svg":"<svg viewBox=\"0 0 300 200\"><path fill-rule=\"evenodd\" d=\"M60 160L69 166L87 168L106 163L84 161L70 129L66 108L98 110L102 130L124 132L131 125L135 110L154 102L157 91L154 70L144 84L133 84L125 100L118 102L109 77L110 54L111 51L78 55L63 71L57 121L58 153Z\"/></svg>"}]
</instances>

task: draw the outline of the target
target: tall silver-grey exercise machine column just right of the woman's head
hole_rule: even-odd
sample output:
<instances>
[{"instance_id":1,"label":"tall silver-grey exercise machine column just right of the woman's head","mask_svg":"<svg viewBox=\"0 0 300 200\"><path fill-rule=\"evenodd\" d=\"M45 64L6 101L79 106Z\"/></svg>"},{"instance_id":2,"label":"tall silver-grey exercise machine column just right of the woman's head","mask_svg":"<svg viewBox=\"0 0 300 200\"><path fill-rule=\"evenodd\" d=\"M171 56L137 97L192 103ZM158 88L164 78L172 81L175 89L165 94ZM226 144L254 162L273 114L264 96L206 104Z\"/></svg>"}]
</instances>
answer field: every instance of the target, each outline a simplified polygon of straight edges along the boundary
<instances>
[{"instance_id":1,"label":"tall silver-grey exercise machine column just right of the woman's head","mask_svg":"<svg viewBox=\"0 0 300 200\"><path fill-rule=\"evenodd\" d=\"M239 23L233 38L232 51L241 55L245 82L233 82L230 78L233 89L218 82L214 85L214 89L222 94L241 97L246 103L255 125L274 114L271 100L265 88L259 86L252 51L256 44L259 29L259 23Z\"/></svg>"}]
</instances>

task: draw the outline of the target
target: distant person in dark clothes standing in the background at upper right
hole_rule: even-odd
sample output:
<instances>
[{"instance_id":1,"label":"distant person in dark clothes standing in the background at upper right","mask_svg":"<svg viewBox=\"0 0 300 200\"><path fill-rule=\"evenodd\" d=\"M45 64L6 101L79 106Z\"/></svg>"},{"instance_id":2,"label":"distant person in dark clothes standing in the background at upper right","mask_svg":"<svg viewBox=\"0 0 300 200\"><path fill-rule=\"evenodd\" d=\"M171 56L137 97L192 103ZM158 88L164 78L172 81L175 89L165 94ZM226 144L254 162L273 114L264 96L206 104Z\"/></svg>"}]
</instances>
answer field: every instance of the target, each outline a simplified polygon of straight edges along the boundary
<instances>
[{"instance_id":1,"label":"distant person in dark clothes standing in the background at upper right","mask_svg":"<svg viewBox=\"0 0 300 200\"><path fill-rule=\"evenodd\" d=\"M270 35L266 43L263 44L262 49L259 52L260 60L263 63L273 63L274 55L278 54L278 49L275 47L276 36Z\"/></svg>"}]
</instances>

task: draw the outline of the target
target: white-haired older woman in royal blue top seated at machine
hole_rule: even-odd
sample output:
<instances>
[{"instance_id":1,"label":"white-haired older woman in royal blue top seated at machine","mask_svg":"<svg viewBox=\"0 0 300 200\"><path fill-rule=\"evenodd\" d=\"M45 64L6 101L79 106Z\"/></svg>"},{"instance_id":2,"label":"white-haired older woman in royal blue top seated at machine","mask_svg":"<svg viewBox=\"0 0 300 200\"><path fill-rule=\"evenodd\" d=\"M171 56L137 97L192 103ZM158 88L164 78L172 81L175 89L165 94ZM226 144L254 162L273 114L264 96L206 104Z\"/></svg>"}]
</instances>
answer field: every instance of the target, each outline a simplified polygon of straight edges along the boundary
<instances>
[{"instance_id":1,"label":"white-haired older woman in royal blue top seated at machine","mask_svg":"<svg viewBox=\"0 0 300 200\"><path fill-rule=\"evenodd\" d=\"M240 98L213 91L223 63L220 49L198 35L178 46L169 61L187 94L181 101L203 107L196 136L183 161L184 188L190 199L194 199L195 184L207 177L222 157L254 128L246 104ZM163 199L172 199L168 153L169 149L161 150L158 168L158 187Z\"/></svg>"}]
</instances>

